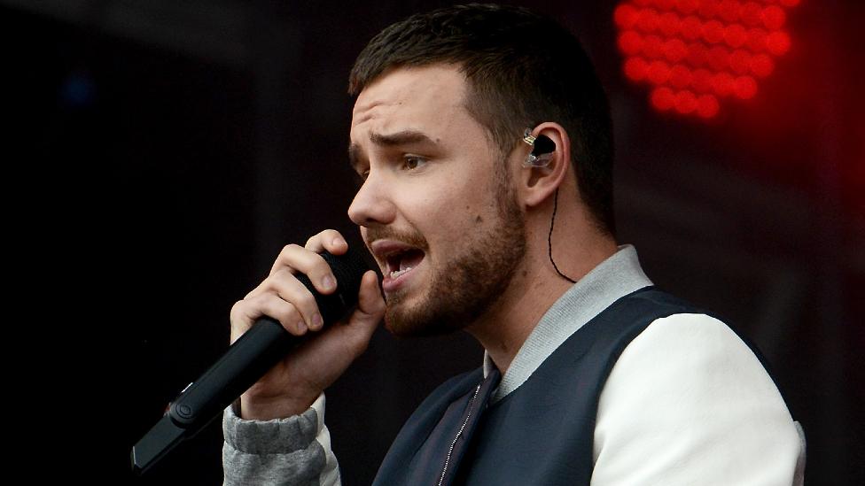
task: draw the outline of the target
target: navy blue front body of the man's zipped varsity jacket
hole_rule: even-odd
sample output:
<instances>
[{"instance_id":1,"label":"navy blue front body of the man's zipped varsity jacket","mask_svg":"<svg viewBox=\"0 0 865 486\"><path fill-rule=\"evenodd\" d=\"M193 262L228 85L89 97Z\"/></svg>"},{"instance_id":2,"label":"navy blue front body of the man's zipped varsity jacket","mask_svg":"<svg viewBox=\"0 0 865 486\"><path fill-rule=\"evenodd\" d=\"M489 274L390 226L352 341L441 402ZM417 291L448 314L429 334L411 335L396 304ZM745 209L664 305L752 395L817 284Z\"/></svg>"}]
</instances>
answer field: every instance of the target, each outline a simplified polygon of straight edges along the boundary
<instances>
[{"instance_id":1,"label":"navy blue front body of the man's zipped varsity jacket","mask_svg":"<svg viewBox=\"0 0 865 486\"><path fill-rule=\"evenodd\" d=\"M452 378L411 415L374 484L588 485L598 398L612 366L652 321L695 312L705 313L652 287L621 297L493 405L495 382L482 369Z\"/></svg>"}]
</instances>

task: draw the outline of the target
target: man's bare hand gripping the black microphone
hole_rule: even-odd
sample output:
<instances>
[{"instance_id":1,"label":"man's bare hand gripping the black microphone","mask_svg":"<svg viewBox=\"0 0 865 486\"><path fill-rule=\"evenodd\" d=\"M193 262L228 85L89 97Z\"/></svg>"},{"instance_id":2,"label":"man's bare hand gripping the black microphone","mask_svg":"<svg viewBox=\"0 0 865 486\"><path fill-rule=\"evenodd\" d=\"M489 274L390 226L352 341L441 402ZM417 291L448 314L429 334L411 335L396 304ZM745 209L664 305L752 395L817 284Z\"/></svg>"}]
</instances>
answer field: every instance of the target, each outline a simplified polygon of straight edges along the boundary
<instances>
[{"instance_id":1,"label":"man's bare hand gripping the black microphone","mask_svg":"<svg viewBox=\"0 0 865 486\"><path fill-rule=\"evenodd\" d=\"M322 294L336 290L339 282L318 255L321 251L342 255L348 244L338 231L328 229L309 238L302 248L284 247L264 282L231 308L231 343L262 315L278 320L294 336L321 330L315 298L294 277L298 272L306 274ZM348 320L334 323L300 345L246 390L240 397L240 416L270 420L303 413L366 350L384 313L378 277L370 270L363 274L357 308Z\"/></svg>"}]
</instances>

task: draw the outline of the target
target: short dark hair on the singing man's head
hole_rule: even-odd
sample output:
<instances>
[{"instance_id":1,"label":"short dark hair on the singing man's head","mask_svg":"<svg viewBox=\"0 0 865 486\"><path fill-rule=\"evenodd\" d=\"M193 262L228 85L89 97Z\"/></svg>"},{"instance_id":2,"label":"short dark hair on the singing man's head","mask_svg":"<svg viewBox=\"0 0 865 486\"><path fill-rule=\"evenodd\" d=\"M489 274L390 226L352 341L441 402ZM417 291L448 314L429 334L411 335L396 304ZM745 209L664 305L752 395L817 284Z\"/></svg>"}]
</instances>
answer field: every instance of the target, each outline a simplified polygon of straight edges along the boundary
<instances>
[{"instance_id":1,"label":"short dark hair on the singing man's head","mask_svg":"<svg viewBox=\"0 0 865 486\"><path fill-rule=\"evenodd\" d=\"M544 121L565 127L582 201L598 228L614 234L610 108L573 34L522 7L468 4L418 13L372 38L355 61L348 92L358 95L394 67L439 63L465 74L466 108L503 153L526 127Z\"/></svg>"}]
</instances>

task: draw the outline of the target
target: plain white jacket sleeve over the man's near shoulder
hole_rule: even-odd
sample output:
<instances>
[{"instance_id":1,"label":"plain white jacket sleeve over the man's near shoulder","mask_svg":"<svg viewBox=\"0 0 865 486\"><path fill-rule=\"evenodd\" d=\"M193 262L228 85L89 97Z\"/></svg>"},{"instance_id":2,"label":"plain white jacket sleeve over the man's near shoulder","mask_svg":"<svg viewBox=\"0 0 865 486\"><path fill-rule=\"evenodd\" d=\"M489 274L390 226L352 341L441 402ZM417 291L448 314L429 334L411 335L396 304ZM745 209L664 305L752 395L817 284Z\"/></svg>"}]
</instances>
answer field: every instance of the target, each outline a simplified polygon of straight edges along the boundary
<instances>
[{"instance_id":1,"label":"plain white jacket sleeve over the man's near shoulder","mask_svg":"<svg viewBox=\"0 0 865 486\"><path fill-rule=\"evenodd\" d=\"M655 320L622 352L598 404L593 486L801 484L804 436L726 324Z\"/></svg>"}]
</instances>

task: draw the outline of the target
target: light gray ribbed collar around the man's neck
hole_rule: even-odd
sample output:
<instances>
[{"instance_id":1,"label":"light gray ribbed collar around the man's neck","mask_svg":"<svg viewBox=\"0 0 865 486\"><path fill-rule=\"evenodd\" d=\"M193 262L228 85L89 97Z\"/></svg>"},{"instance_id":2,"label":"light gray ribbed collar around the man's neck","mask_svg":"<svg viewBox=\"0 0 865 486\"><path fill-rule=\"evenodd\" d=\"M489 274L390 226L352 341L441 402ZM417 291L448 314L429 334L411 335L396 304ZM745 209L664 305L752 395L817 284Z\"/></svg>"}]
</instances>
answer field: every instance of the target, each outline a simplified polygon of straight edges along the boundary
<instances>
[{"instance_id":1,"label":"light gray ribbed collar around the man's neck","mask_svg":"<svg viewBox=\"0 0 865 486\"><path fill-rule=\"evenodd\" d=\"M549 307L519 348L491 400L498 401L517 390L568 337L613 302L651 284L643 274L635 248L629 244L620 246L619 251L592 269ZM493 366L493 360L485 351L484 376Z\"/></svg>"}]
</instances>

